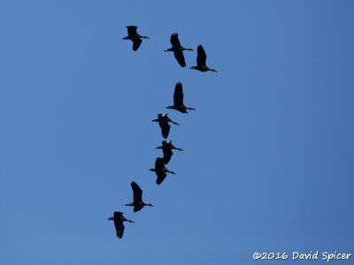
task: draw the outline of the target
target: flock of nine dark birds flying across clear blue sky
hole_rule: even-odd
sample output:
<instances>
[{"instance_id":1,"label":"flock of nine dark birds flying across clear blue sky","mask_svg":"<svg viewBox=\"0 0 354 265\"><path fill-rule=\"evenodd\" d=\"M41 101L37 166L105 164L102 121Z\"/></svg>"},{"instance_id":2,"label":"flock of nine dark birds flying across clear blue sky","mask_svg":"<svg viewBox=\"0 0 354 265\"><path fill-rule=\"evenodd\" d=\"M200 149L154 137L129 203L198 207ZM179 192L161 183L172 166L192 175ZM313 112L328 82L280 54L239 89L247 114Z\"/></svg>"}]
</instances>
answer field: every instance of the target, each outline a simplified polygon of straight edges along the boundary
<instances>
[{"instance_id":1,"label":"flock of nine dark birds flying across clear blue sky","mask_svg":"<svg viewBox=\"0 0 354 265\"><path fill-rule=\"evenodd\" d=\"M124 37L123 40L130 40L133 42L133 50L139 49L140 45L142 44L142 39L149 39L148 36L142 36L136 32L136 26L127 26L127 37ZM193 50L193 49L186 49L181 46L181 43L178 39L178 34L172 34L171 35L171 44L172 48L170 49L165 49L165 51L173 51L174 57L176 58L177 62L181 65L181 67L186 66L186 61L183 56L183 50ZM206 54L203 49L202 45L199 45L197 48L197 56L196 56L196 66L190 67L190 69L196 69L201 72L207 72L207 71L212 71L212 72L217 72L215 69L210 69L208 66L205 64L206 61ZM171 109L171 110L178 110L181 113L188 113L187 110L195 110L193 108L188 108L184 105L183 103L183 89L182 89L182 84L181 82L178 82L176 84L176 87L174 88L174 94L173 94L173 106L168 106L166 109ZM171 126L168 124L169 122L173 123L173 125L179 125L178 123L174 122L171 120L167 114L158 114L157 119L153 119L153 122L158 122L158 125L161 128L161 133L162 136L167 139L168 134L170 133L170 128ZM158 157L155 162L155 168L150 169L150 171L153 171L156 173L158 176L156 183L160 185L165 177L167 176L166 173L171 173L171 174L176 174L173 171L167 170L165 168L165 164L169 163L171 160L171 157L173 155L173 149L183 151L181 148L176 148L172 144L172 140L164 140L162 141L162 146L158 147L158 149L162 149L164 156L163 157ZM152 204L150 203L145 203L142 201L142 189L133 181L131 183L132 189L133 189L133 202L127 203L126 206L133 206L134 207L134 212L140 211L144 206L150 206L153 207ZM112 217L109 217L108 220L114 221L114 226L116 228L116 233L117 237L121 239L123 237L124 233L124 224L123 222L129 222L129 223L134 223L132 220L127 220L126 217L123 216L122 212L114 212Z\"/></svg>"}]
</instances>

